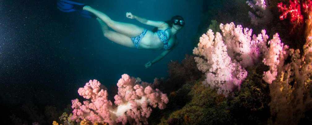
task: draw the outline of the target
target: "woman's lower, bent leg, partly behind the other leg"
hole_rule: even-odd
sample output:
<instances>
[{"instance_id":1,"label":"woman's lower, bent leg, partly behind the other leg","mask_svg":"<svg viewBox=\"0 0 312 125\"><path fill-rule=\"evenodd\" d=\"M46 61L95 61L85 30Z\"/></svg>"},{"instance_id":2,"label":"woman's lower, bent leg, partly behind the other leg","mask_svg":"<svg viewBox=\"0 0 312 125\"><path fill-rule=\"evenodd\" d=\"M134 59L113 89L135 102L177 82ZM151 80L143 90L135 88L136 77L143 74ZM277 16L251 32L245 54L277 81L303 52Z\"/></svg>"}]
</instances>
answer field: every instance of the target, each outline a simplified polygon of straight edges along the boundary
<instances>
[{"instance_id":1,"label":"woman's lower, bent leg, partly behind the other leg","mask_svg":"<svg viewBox=\"0 0 312 125\"><path fill-rule=\"evenodd\" d=\"M123 45L125 47L130 47L130 48L135 48L130 37L128 37L124 34L121 34L121 33L110 31L110 30L108 30L108 26L101 19L96 18L96 20L99 21L99 23L101 25L101 29L103 31L103 35L106 38L108 38L109 40L111 40L111 41L113 41L119 45Z\"/></svg>"}]
</instances>

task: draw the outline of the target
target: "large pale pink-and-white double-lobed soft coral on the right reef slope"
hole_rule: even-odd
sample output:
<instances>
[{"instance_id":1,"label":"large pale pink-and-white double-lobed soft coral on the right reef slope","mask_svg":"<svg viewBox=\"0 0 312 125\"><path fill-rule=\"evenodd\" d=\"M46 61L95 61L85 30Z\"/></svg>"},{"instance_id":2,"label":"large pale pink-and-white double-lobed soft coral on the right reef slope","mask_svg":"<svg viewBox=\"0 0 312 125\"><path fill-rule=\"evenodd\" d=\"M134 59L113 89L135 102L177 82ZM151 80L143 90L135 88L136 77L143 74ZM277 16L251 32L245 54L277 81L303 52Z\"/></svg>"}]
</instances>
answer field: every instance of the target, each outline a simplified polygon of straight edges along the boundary
<instances>
[{"instance_id":1,"label":"large pale pink-and-white double-lobed soft coral on the right reef slope","mask_svg":"<svg viewBox=\"0 0 312 125\"><path fill-rule=\"evenodd\" d=\"M252 29L241 25L220 24L221 33L213 35L211 29L203 34L198 47L193 49L197 68L206 74L204 85L217 88L219 94L229 95L240 89L247 76L245 68L250 68L261 59L267 50L268 35L262 30L252 35Z\"/></svg>"}]
</instances>

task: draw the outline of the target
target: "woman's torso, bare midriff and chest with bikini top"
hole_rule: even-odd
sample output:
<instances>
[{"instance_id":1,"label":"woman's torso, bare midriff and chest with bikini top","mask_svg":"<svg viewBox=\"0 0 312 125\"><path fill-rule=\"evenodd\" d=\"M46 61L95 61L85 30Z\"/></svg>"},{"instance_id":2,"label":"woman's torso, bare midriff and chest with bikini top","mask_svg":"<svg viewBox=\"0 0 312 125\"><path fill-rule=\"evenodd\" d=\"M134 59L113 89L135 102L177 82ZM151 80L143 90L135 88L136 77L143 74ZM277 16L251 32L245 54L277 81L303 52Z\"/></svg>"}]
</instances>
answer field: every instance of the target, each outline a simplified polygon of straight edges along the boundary
<instances>
[{"instance_id":1,"label":"woman's torso, bare midriff and chest with bikini top","mask_svg":"<svg viewBox=\"0 0 312 125\"><path fill-rule=\"evenodd\" d=\"M170 28L169 29L158 29L158 30L163 30L168 38L168 45L167 47L173 47L174 43L176 41L176 38L173 37ZM162 32L162 31L158 31ZM170 48L170 49L171 49ZM152 32L148 30L145 34L145 36L142 38L141 43L140 43L140 49L153 49L153 50L162 50L164 49L164 43L161 41L158 37L157 32Z\"/></svg>"}]
</instances>

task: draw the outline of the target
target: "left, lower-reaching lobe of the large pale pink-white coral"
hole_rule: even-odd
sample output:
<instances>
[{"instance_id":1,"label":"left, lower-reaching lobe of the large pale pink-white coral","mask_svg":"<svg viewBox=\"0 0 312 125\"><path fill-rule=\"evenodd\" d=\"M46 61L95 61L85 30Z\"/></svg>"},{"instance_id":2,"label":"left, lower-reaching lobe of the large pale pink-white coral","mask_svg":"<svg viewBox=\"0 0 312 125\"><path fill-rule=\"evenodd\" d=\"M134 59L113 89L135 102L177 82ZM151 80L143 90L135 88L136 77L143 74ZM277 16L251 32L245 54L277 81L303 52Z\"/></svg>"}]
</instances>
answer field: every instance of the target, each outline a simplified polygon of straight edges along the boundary
<instances>
[{"instance_id":1,"label":"left, lower-reaching lobe of the large pale pink-white coral","mask_svg":"<svg viewBox=\"0 0 312 125\"><path fill-rule=\"evenodd\" d=\"M247 76L247 71L236 60L231 60L227 54L227 47L222 41L220 33L213 35L211 29L203 34L195 47L193 54L203 56L195 57L197 67L206 74L205 86L217 88L218 94L228 96L229 93L240 88Z\"/></svg>"}]
</instances>

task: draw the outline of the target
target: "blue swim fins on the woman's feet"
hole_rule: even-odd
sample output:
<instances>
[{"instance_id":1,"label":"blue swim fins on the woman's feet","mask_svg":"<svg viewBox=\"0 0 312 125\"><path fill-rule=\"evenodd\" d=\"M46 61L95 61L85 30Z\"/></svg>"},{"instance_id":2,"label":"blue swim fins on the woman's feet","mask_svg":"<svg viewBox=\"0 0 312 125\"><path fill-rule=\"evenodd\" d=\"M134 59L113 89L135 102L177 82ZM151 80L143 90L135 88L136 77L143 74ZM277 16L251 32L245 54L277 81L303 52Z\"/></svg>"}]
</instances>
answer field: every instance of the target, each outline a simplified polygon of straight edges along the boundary
<instances>
[{"instance_id":1,"label":"blue swim fins on the woman's feet","mask_svg":"<svg viewBox=\"0 0 312 125\"><path fill-rule=\"evenodd\" d=\"M96 18L96 16L89 11L82 10L86 4L84 3L78 3L78 2L72 2L69 0L57 0L57 9L63 11L63 12L73 12L76 11L81 16L89 17L89 18Z\"/></svg>"}]
</instances>

